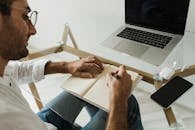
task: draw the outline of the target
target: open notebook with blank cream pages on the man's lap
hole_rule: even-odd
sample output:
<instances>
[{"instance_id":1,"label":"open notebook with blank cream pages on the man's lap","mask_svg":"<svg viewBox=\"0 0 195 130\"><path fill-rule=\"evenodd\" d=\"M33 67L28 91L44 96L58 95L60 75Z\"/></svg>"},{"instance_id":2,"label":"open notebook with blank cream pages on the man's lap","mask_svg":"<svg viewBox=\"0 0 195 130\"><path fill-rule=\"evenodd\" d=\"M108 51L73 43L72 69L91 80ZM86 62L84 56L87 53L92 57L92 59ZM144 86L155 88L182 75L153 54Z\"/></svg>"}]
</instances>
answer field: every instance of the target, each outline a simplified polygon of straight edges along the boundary
<instances>
[{"instance_id":1,"label":"open notebook with blank cream pages on the man's lap","mask_svg":"<svg viewBox=\"0 0 195 130\"><path fill-rule=\"evenodd\" d=\"M71 76L62 84L65 91L105 110L109 111L109 89L106 86L106 74L116 71L113 65L104 65L104 71L93 79ZM142 78L138 73L128 71L133 81L133 88Z\"/></svg>"}]
</instances>

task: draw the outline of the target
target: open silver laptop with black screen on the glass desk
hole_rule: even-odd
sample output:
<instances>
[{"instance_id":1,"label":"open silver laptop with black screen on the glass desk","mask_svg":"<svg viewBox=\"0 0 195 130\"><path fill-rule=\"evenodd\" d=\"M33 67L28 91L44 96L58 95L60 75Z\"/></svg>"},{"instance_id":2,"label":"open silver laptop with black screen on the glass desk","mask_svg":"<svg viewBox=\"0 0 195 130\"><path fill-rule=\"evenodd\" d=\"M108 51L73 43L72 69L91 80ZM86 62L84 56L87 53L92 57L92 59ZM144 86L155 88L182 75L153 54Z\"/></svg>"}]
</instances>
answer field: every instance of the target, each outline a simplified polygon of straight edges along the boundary
<instances>
[{"instance_id":1,"label":"open silver laptop with black screen on the glass desk","mask_svg":"<svg viewBox=\"0 0 195 130\"><path fill-rule=\"evenodd\" d=\"M190 0L125 0L125 24L101 45L161 65L185 31Z\"/></svg>"}]
</instances>

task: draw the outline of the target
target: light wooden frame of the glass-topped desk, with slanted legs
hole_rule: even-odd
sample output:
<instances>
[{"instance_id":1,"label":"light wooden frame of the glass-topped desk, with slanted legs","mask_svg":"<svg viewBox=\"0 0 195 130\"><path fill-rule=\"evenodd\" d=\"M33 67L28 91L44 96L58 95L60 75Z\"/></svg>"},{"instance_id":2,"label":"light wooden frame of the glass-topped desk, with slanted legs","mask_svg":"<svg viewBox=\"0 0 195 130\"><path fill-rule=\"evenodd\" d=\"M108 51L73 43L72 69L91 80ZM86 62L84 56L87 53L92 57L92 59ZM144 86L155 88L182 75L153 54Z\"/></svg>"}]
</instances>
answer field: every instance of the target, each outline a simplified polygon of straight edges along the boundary
<instances>
[{"instance_id":1,"label":"light wooden frame of the glass-topped desk, with slanted legs","mask_svg":"<svg viewBox=\"0 0 195 130\"><path fill-rule=\"evenodd\" d=\"M70 47L70 46L67 45L68 36L70 37L74 47ZM85 52L85 51L82 51L82 50L78 49L78 46L75 42L75 39L72 35L72 32L71 32L69 26L66 24L64 32L63 32L63 36L62 36L62 41L61 41L61 44L59 46L48 48L48 49L40 51L40 52L32 53L25 59L28 59L28 60L29 59L34 59L34 58L38 58L38 57L41 57L41 56L45 56L45 55L48 55L48 54L51 54L51 53L57 53L57 52L61 52L61 51L65 51L65 52L68 52L70 54L76 55L79 58L84 58L84 57L87 57L87 56L90 56L90 55L94 55L92 53ZM95 55L95 56L97 58L99 58L104 63L112 64L112 65L115 65L115 66L120 66L120 63L118 63L118 62L111 61L109 59L105 59L105 58L97 56L97 55ZM130 67L130 66L126 66L126 68L128 70L135 71L135 72L139 73L141 76L143 76L143 79L142 79L143 81L146 81L150 84L153 84L156 89L159 89L160 87L162 87L162 84L167 82L167 81L163 81L163 82L155 81L153 79L152 74L146 73L142 70L138 70L138 69ZM183 72L181 72L181 69L176 70L176 73L174 74L173 77L175 77L177 75L181 76L181 77L186 77L186 76L190 76L190 75L193 75L193 74L195 74L195 65L191 65L190 67L185 69ZM34 96L34 99L36 101L36 104L37 104L38 108L41 109L43 107L43 105L41 103L41 99L40 99L40 96L38 94L38 91L36 89L35 84L30 83L29 86L30 86L30 90L31 90L31 92ZM163 111L165 113L165 116L166 116L166 119L168 121L169 126L171 126L171 124L177 123L176 117L175 117L174 112L173 112L171 107L168 108L168 109L163 109Z\"/></svg>"}]
</instances>

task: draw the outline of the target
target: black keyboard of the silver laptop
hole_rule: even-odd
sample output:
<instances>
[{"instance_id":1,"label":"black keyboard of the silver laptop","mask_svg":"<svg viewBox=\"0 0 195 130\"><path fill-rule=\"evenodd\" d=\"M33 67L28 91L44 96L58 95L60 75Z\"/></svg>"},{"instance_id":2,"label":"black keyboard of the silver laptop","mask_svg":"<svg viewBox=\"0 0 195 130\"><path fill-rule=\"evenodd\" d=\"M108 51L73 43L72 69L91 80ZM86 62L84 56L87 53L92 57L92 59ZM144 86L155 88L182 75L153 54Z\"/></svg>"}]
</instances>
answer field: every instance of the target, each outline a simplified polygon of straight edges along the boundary
<instances>
[{"instance_id":1,"label":"black keyboard of the silver laptop","mask_svg":"<svg viewBox=\"0 0 195 130\"><path fill-rule=\"evenodd\" d=\"M117 36L129 40L137 41L143 44L148 44L161 49L163 49L172 39L172 37L163 36L160 34L155 34L155 33L141 31L132 28L125 28Z\"/></svg>"}]
</instances>

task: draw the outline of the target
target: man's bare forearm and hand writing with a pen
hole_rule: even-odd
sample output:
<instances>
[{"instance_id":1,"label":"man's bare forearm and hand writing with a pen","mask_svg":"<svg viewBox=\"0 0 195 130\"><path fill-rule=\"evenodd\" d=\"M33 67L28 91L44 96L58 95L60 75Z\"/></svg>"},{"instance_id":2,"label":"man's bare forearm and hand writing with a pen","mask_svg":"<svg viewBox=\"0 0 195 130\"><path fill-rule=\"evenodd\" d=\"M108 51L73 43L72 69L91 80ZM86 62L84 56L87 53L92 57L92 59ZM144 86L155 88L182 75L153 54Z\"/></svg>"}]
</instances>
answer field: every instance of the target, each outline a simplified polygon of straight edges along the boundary
<instances>
[{"instance_id":1,"label":"man's bare forearm and hand writing with a pen","mask_svg":"<svg viewBox=\"0 0 195 130\"><path fill-rule=\"evenodd\" d=\"M127 130L127 100L131 93L131 77L124 66L107 76L110 90L110 112L106 130Z\"/></svg>"}]
</instances>

